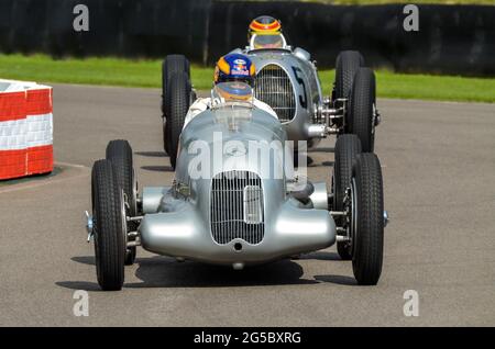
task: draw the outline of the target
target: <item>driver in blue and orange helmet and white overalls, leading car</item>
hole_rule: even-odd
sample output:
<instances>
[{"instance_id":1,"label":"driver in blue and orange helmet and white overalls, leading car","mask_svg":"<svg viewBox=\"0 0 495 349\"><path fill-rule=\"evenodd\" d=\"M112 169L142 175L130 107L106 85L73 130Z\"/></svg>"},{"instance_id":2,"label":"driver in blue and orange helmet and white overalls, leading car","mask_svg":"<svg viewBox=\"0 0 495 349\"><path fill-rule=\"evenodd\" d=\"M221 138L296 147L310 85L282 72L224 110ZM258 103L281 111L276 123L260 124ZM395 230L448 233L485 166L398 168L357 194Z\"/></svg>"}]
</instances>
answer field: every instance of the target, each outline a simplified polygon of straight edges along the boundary
<instances>
[{"instance_id":1,"label":"driver in blue and orange helmet and white overalls, leading car","mask_svg":"<svg viewBox=\"0 0 495 349\"><path fill-rule=\"evenodd\" d=\"M248 83L251 89L249 95L252 95L252 88L254 87L254 76L256 69L254 68L254 64L251 59L241 54L229 54L217 61L217 66L215 67L215 85L221 82L237 81ZM239 100L245 100L246 93L242 91L242 89L233 90L232 93L240 93ZM233 95L235 98L235 95ZM231 98L232 99L232 95ZM189 123L196 115L204 112L207 109L210 109L215 103L222 102L219 99L211 98L198 98L189 108L189 111L186 114L186 120L184 121L184 127ZM224 102L224 100L223 100ZM268 114L277 117L275 111L266 103L257 100L256 98L252 98L252 103L254 108L261 109Z\"/></svg>"}]
</instances>

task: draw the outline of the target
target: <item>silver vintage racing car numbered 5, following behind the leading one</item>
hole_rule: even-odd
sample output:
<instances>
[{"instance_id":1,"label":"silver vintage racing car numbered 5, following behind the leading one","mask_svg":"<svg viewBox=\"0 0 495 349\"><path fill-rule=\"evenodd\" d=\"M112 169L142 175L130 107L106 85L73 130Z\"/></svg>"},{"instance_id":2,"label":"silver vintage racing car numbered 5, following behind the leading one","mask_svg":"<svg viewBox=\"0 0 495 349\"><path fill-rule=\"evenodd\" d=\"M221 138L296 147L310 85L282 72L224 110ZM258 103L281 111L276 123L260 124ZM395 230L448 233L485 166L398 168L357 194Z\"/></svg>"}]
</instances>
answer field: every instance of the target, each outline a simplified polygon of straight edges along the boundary
<instances>
[{"instance_id":1,"label":"silver vintage racing car numbered 5, following behind the leading one","mask_svg":"<svg viewBox=\"0 0 495 349\"><path fill-rule=\"evenodd\" d=\"M381 122L376 108L376 82L373 70L364 67L359 52L344 50L338 55L332 94L329 97L323 95L316 61L310 54L287 45L282 33L253 34L249 46L232 53L245 54L254 63L254 94L277 113L288 139L295 142L296 151L298 140L304 140L305 147L312 148L328 135L355 134L363 150L373 153L375 126ZM175 78L170 77L178 72L189 76L189 61L182 55L167 56L163 63L162 110L164 145L168 154L165 135L170 130L165 121L174 122L167 115L167 105L172 105L173 100L170 93L174 92L167 94L166 87L174 85ZM190 104L196 94L190 81L187 83Z\"/></svg>"}]
</instances>

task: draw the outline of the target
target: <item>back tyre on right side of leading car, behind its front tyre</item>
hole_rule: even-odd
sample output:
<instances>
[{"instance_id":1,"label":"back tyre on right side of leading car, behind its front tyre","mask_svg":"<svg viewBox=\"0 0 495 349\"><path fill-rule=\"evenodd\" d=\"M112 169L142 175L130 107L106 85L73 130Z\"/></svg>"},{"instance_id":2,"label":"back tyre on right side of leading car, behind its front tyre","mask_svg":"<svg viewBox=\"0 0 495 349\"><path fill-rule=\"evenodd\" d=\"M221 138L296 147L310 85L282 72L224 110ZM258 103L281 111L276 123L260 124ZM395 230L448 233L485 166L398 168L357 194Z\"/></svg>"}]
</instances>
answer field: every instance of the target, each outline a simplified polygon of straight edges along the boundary
<instances>
[{"instance_id":1,"label":"back tyre on right side of leading car, behind its front tyre","mask_svg":"<svg viewBox=\"0 0 495 349\"><path fill-rule=\"evenodd\" d=\"M361 142L356 135L342 135L337 138L336 159L333 164L333 210L344 211L345 190L351 188L352 165L361 153ZM336 217L338 226L344 225L344 218ZM343 260L351 260L351 245L337 243L337 251Z\"/></svg>"}]
</instances>

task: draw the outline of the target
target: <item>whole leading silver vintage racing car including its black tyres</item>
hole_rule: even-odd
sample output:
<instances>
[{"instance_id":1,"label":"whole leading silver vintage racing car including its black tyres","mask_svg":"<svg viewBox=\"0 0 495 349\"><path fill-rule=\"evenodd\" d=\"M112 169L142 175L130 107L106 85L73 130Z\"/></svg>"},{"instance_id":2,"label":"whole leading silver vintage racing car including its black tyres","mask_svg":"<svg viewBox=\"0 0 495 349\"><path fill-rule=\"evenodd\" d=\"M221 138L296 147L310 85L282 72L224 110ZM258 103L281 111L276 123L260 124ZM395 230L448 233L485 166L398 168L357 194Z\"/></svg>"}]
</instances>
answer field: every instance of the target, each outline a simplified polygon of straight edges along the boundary
<instances>
[{"instance_id":1,"label":"whole leading silver vintage racing car including its black tyres","mask_svg":"<svg viewBox=\"0 0 495 349\"><path fill-rule=\"evenodd\" d=\"M376 155L361 153L355 135L339 137L329 192L295 170L278 120L245 95L232 97L239 83L218 83L212 93L231 98L184 127L170 185L138 191L127 140L110 142L95 162L87 229L103 290L122 288L124 264L134 262L139 246L239 270L337 241L358 283L377 283L386 212Z\"/></svg>"}]
</instances>

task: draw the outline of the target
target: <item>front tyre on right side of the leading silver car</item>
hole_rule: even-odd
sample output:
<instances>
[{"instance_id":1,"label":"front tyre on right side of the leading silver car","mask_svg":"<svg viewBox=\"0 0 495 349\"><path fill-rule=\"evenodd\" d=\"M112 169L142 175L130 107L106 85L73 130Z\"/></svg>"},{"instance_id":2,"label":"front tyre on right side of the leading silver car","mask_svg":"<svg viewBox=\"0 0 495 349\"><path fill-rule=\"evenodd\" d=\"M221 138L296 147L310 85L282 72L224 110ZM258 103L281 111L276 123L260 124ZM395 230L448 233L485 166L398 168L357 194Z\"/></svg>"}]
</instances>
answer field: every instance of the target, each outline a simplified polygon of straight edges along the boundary
<instances>
[{"instance_id":1,"label":"front tyre on right side of the leading silver car","mask_svg":"<svg viewBox=\"0 0 495 349\"><path fill-rule=\"evenodd\" d=\"M359 284L378 282L383 263L383 180L378 157L358 156L352 170L353 200L358 203L352 217L352 269Z\"/></svg>"}]
</instances>

